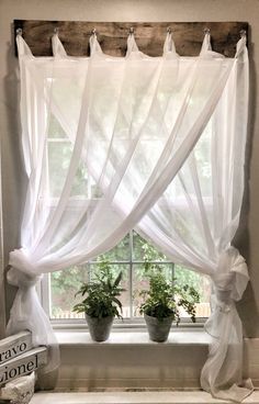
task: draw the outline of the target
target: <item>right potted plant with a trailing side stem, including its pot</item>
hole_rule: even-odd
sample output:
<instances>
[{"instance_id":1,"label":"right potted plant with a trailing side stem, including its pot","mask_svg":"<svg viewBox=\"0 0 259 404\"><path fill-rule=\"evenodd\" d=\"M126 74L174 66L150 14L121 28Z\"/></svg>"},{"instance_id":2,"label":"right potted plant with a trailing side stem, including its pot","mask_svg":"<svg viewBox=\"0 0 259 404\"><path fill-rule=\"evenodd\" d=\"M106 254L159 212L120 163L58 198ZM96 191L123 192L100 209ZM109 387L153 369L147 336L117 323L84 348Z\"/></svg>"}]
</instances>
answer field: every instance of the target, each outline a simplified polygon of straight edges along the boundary
<instances>
[{"instance_id":1,"label":"right potted plant with a trailing side stem, including its pot","mask_svg":"<svg viewBox=\"0 0 259 404\"><path fill-rule=\"evenodd\" d=\"M159 263L150 263L145 259L145 274L149 280L149 289L140 291L143 303L140 314L147 325L149 338L157 343L166 341L173 321L180 322L180 307L183 307L195 322L195 304L200 295L188 284L179 288L176 280L168 281Z\"/></svg>"}]
</instances>

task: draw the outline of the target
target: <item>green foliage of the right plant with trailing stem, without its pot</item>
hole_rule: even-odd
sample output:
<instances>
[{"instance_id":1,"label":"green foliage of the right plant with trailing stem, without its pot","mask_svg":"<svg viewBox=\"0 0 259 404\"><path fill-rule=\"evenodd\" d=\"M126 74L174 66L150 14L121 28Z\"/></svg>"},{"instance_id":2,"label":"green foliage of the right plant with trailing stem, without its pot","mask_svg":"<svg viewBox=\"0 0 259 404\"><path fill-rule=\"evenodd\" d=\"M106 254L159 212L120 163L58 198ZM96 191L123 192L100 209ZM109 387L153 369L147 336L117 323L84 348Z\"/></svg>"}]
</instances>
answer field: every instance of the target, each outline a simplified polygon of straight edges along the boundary
<instances>
[{"instance_id":1,"label":"green foliage of the right plant with trailing stem, without its pot","mask_svg":"<svg viewBox=\"0 0 259 404\"><path fill-rule=\"evenodd\" d=\"M148 256L144 256L145 276L149 280L149 289L139 292L143 303L139 306L140 314L156 317L162 321L172 317L180 322L180 310L183 307L195 322L195 304L200 302L200 295L193 287L188 284L178 287L176 280L167 280L159 263L151 263Z\"/></svg>"}]
</instances>

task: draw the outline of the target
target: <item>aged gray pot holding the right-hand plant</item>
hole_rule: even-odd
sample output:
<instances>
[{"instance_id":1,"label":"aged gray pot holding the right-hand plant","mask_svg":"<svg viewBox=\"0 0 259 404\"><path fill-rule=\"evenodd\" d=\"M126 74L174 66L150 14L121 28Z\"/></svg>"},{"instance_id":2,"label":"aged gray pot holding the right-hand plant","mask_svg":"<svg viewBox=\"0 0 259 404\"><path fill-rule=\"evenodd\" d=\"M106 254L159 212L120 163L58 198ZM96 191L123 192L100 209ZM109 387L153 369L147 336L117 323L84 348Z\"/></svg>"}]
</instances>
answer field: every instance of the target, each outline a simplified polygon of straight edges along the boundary
<instances>
[{"instance_id":1,"label":"aged gray pot holding the right-hand plant","mask_svg":"<svg viewBox=\"0 0 259 404\"><path fill-rule=\"evenodd\" d=\"M165 343L171 328L172 317L158 319L157 317L144 314L144 318L146 321L149 338L156 343Z\"/></svg>"}]
</instances>

